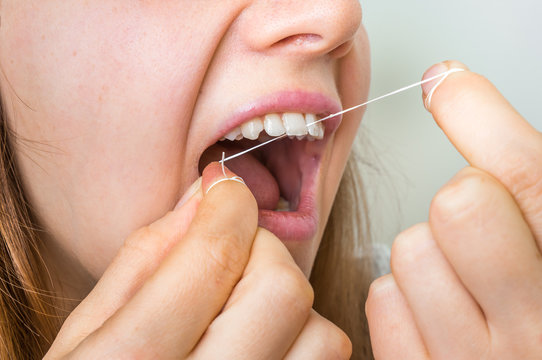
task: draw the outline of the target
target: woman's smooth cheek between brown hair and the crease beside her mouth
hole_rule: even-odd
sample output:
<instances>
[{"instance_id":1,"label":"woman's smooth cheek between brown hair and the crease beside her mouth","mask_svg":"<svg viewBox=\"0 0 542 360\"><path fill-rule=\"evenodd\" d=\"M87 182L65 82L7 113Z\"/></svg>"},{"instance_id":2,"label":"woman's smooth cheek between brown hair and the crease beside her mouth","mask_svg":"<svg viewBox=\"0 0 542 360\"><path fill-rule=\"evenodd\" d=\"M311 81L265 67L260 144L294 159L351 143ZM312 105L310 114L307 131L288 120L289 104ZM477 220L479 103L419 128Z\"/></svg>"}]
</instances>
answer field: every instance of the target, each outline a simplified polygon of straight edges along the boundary
<instances>
[{"instance_id":1,"label":"woman's smooth cheek between brown hair and the crease beside her mouth","mask_svg":"<svg viewBox=\"0 0 542 360\"><path fill-rule=\"evenodd\" d=\"M3 8L0 46L28 105L3 94L29 140L16 146L25 190L55 241L99 276L124 238L190 182L185 137L217 40L189 41L197 27L158 2L14 3Z\"/></svg>"}]
</instances>

